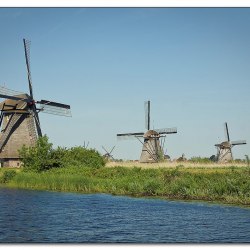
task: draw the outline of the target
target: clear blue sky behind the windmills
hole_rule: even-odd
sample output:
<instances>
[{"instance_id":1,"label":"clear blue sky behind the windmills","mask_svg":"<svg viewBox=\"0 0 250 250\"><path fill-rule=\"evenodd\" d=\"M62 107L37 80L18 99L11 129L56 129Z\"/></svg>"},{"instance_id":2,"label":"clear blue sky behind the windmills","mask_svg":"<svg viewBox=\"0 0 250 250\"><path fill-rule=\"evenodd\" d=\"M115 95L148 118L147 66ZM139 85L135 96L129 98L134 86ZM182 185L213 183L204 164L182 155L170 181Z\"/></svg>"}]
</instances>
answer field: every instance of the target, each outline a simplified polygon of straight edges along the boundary
<instances>
[{"instance_id":1,"label":"clear blue sky behind the windmills","mask_svg":"<svg viewBox=\"0 0 250 250\"><path fill-rule=\"evenodd\" d=\"M235 158L250 155L249 8L0 8L0 85L28 91L23 38L31 40L35 99L71 105L40 114L55 146L83 145L139 159L117 133L177 127L171 158L210 157L228 122Z\"/></svg>"}]
</instances>

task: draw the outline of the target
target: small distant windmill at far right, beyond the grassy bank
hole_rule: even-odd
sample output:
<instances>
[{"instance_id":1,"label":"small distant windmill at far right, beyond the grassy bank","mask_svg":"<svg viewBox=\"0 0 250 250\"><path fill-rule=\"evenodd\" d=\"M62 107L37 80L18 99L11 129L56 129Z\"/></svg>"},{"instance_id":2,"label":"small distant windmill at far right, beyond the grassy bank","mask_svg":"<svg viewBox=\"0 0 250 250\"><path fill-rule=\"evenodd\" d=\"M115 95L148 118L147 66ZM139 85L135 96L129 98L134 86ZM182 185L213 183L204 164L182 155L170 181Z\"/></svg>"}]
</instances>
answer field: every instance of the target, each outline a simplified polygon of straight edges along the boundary
<instances>
[{"instance_id":1,"label":"small distant windmill at far right, beyond the grassy bank","mask_svg":"<svg viewBox=\"0 0 250 250\"><path fill-rule=\"evenodd\" d=\"M226 122L225 122L225 135L226 135L226 141L219 144L215 144L215 147L217 147L218 162L227 162L233 160L232 147L236 145L247 144L245 140L230 141Z\"/></svg>"}]
</instances>

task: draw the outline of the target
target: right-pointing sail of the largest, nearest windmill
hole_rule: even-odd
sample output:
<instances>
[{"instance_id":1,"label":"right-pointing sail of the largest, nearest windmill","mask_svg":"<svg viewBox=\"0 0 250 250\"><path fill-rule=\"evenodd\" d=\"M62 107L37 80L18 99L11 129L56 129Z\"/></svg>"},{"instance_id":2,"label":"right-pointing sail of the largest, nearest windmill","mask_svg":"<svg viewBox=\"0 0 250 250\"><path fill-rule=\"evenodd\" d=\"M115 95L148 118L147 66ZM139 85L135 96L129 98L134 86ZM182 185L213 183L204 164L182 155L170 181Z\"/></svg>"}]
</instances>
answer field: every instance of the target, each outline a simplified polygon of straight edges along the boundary
<instances>
[{"instance_id":1,"label":"right-pointing sail of the largest, nearest windmill","mask_svg":"<svg viewBox=\"0 0 250 250\"><path fill-rule=\"evenodd\" d=\"M37 102L40 104L39 110L53 115L72 116L70 106L62 103L41 100Z\"/></svg>"}]
</instances>

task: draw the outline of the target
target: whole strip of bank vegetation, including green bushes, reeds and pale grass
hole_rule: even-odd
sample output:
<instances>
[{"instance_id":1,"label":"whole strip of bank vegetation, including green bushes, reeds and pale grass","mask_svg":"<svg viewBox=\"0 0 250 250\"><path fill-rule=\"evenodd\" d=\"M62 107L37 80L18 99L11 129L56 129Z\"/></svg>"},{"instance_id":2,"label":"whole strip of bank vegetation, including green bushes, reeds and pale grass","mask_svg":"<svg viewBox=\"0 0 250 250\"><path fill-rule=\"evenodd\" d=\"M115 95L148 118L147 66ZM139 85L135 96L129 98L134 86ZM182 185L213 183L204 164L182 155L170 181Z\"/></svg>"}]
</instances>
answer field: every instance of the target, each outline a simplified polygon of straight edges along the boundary
<instances>
[{"instance_id":1,"label":"whole strip of bank vegetation, including green bushes, reeds and pale grass","mask_svg":"<svg viewBox=\"0 0 250 250\"><path fill-rule=\"evenodd\" d=\"M52 150L47 137L21 152L22 168L0 169L2 187L250 206L250 168L244 162L105 163L93 149Z\"/></svg>"}]
</instances>

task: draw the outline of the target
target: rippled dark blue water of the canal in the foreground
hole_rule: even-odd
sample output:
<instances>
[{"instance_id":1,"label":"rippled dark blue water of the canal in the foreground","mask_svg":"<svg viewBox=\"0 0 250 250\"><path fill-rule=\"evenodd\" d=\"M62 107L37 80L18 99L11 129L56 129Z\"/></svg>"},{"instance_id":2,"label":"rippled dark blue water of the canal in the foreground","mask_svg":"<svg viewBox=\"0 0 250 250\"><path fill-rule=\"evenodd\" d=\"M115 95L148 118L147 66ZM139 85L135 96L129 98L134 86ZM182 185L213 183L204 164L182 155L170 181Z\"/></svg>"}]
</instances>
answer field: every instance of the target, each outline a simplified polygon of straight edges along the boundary
<instances>
[{"instance_id":1,"label":"rippled dark blue water of the canal in the foreground","mask_svg":"<svg viewBox=\"0 0 250 250\"><path fill-rule=\"evenodd\" d=\"M0 242L250 242L250 209L0 189Z\"/></svg>"}]
</instances>

